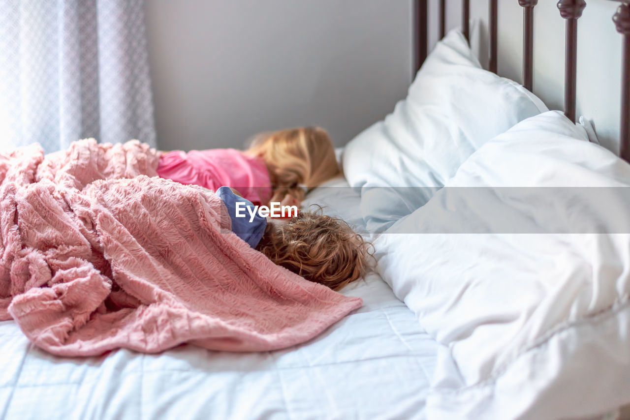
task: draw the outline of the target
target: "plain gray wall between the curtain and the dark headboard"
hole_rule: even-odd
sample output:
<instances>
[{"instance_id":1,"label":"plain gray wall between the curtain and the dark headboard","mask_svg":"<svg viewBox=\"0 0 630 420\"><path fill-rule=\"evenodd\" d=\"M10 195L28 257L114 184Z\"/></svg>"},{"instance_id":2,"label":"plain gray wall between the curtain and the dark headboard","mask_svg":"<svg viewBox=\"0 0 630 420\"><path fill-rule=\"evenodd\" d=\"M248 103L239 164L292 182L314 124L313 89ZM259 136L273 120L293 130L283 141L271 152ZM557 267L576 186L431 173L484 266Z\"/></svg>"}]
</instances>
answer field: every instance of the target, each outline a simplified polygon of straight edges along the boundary
<instances>
[{"instance_id":1,"label":"plain gray wall between the curtain and the dark headboard","mask_svg":"<svg viewBox=\"0 0 630 420\"><path fill-rule=\"evenodd\" d=\"M320 125L337 145L411 81L411 0L146 0L161 149Z\"/></svg>"}]
</instances>

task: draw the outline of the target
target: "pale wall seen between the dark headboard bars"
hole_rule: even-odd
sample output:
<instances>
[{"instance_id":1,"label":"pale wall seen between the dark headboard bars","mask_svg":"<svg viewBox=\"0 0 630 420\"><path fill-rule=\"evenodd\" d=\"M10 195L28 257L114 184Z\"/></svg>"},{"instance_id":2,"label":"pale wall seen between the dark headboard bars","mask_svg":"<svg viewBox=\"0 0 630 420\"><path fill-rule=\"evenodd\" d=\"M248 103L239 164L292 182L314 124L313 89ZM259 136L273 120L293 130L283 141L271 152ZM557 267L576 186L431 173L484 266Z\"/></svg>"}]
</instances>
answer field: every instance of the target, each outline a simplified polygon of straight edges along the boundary
<instances>
[{"instance_id":1,"label":"pale wall seen between the dark headboard bars","mask_svg":"<svg viewBox=\"0 0 630 420\"><path fill-rule=\"evenodd\" d=\"M437 34L438 0L430 0L432 34ZM450 3L447 26L461 22L461 0ZM523 8L517 0L499 2L499 65L501 76L522 79ZM564 110L564 28L556 0L541 0L534 9L534 93L550 109ZM593 120L602 145L618 153L621 103L622 37L612 23L619 3L588 0L578 23L578 115ZM488 0L471 0L471 18L483 21L481 57L488 57ZM432 43L437 40L435 36Z\"/></svg>"}]
</instances>

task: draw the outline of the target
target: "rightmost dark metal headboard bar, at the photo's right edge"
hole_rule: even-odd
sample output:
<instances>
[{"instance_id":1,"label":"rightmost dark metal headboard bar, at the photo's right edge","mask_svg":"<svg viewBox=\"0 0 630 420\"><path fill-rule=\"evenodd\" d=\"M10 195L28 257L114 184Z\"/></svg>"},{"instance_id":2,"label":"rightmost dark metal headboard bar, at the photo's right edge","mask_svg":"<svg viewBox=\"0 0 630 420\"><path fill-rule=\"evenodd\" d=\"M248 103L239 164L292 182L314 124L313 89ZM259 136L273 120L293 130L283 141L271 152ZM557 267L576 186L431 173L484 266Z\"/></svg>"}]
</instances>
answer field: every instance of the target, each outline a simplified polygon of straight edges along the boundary
<instances>
[{"instance_id":1,"label":"rightmost dark metal headboard bar, at the photo's right edge","mask_svg":"<svg viewBox=\"0 0 630 420\"><path fill-rule=\"evenodd\" d=\"M621 80L621 157L630 162L630 3L623 3L613 18L617 31L624 35Z\"/></svg>"}]
</instances>

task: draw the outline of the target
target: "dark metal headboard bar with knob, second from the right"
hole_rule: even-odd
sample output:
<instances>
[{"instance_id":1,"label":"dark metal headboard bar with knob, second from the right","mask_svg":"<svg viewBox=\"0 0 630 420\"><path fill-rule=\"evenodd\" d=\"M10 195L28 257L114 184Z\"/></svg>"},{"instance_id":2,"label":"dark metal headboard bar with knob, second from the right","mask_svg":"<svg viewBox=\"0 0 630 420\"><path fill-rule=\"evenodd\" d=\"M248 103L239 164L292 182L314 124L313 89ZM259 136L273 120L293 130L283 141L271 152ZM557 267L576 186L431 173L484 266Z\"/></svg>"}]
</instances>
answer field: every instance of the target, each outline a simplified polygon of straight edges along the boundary
<instances>
[{"instance_id":1,"label":"dark metal headboard bar with knob, second from the right","mask_svg":"<svg viewBox=\"0 0 630 420\"><path fill-rule=\"evenodd\" d=\"M564 114L575 123L575 103L578 69L578 19L587 6L584 0L560 0L558 9L566 19L564 67Z\"/></svg>"}]
</instances>

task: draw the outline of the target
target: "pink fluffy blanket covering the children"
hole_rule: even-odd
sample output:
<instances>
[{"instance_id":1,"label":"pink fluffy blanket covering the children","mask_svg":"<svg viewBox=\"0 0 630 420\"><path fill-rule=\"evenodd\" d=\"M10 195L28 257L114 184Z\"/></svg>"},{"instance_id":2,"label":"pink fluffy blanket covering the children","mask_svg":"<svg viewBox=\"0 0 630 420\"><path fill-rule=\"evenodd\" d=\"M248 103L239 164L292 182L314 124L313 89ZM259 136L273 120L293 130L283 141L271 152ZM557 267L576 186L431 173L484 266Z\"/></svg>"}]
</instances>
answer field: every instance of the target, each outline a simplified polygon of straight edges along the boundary
<instances>
[{"instance_id":1,"label":"pink fluffy blanket covering the children","mask_svg":"<svg viewBox=\"0 0 630 420\"><path fill-rule=\"evenodd\" d=\"M63 356L265 351L361 306L251 249L216 195L154 177L158 159L137 141L0 154L0 320Z\"/></svg>"}]
</instances>

